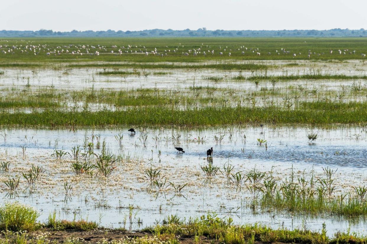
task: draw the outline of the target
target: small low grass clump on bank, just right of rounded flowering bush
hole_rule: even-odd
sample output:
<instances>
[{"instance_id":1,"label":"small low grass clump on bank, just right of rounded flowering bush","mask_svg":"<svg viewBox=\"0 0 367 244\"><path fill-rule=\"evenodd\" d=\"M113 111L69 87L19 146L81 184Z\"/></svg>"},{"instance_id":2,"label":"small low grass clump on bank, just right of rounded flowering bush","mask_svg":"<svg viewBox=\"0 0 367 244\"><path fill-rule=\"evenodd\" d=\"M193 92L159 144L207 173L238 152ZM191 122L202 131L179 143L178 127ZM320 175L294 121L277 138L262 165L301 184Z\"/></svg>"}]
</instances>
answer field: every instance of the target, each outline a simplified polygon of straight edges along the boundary
<instances>
[{"instance_id":1,"label":"small low grass clump on bank, just right of rounded flowering bush","mask_svg":"<svg viewBox=\"0 0 367 244\"><path fill-rule=\"evenodd\" d=\"M93 230L98 228L96 222L83 219L75 220L75 217L73 221L58 220L56 219L56 212L48 216L45 226L53 230Z\"/></svg>"}]
</instances>

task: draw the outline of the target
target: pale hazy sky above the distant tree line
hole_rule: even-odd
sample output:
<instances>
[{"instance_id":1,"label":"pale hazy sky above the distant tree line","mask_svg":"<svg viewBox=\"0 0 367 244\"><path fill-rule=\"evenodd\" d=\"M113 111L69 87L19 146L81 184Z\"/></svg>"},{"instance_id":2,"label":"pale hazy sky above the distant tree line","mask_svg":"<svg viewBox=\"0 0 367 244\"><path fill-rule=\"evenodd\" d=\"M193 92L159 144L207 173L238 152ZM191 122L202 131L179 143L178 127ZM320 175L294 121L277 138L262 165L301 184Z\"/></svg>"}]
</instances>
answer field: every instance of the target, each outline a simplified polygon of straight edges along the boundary
<instances>
[{"instance_id":1,"label":"pale hazy sky above the distant tree line","mask_svg":"<svg viewBox=\"0 0 367 244\"><path fill-rule=\"evenodd\" d=\"M367 29L367 0L8 0L1 30Z\"/></svg>"}]
</instances>

